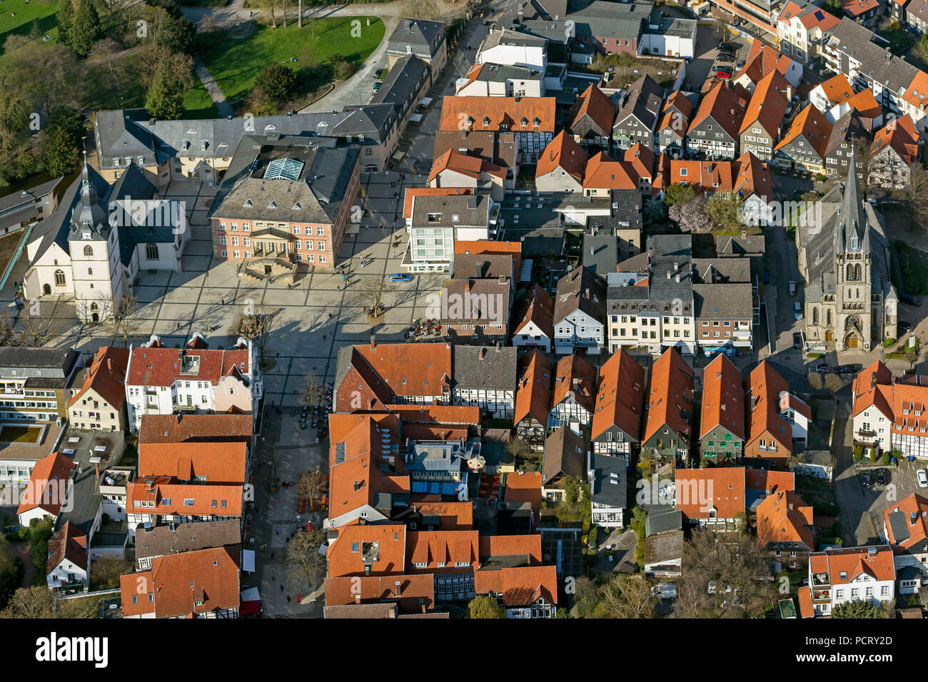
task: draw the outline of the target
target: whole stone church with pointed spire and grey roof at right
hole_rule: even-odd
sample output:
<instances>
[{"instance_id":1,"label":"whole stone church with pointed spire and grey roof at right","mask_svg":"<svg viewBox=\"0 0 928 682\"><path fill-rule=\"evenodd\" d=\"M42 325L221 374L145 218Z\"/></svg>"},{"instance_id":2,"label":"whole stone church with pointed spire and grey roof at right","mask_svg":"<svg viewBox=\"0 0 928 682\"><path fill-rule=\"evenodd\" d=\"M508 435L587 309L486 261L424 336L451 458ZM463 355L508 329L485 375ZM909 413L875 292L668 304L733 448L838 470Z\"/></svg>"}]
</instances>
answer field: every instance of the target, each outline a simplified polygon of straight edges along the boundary
<instances>
[{"instance_id":1,"label":"whole stone church with pointed spire and grey roof at right","mask_svg":"<svg viewBox=\"0 0 928 682\"><path fill-rule=\"evenodd\" d=\"M863 200L856 163L799 221L796 248L806 285L806 341L825 349L870 351L896 339L898 297L889 277L881 216Z\"/></svg>"}]
</instances>

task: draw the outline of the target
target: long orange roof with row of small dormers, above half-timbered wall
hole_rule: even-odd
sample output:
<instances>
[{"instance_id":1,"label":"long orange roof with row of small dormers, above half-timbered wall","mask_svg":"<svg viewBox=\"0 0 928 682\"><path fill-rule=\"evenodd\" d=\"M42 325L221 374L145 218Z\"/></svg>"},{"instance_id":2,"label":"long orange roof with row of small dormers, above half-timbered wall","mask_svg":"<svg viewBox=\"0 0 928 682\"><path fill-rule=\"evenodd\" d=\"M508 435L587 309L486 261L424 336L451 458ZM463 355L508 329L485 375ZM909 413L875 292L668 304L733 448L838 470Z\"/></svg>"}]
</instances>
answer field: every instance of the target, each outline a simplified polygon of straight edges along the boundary
<instances>
[{"instance_id":1,"label":"long orange roof with row of small dormers, above half-timbered wall","mask_svg":"<svg viewBox=\"0 0 928 682\"><path fill-rule=\"evenodd\" d=\"M505 125L515 133L553 135L554 105L554 97L445 97L438 129L502 130Z\"/></svg>"}]
</instances>

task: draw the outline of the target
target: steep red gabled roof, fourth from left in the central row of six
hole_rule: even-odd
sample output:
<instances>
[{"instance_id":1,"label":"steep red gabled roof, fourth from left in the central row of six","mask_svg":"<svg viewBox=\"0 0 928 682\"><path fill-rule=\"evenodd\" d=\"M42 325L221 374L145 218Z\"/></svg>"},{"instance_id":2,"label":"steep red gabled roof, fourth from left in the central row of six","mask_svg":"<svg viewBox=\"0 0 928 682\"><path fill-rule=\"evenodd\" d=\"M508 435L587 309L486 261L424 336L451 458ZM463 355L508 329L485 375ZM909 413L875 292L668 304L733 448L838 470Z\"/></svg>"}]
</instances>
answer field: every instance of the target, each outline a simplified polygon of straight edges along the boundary
<instances>
[{"instance_id":1,"label":"steep red gabled roof, fourth from left in the central row of six","mask_svg":"<svg viewBox=\"0 0 928 682\"><path fill-rule=\"evenodd\" d=\"M647 397L644 435L649 440L664 424L677 434L690 438L690 420L682 410L692 415L693 373L683 356L668 348L651 366L651 386Z\"/></svg>"}]
</instances>

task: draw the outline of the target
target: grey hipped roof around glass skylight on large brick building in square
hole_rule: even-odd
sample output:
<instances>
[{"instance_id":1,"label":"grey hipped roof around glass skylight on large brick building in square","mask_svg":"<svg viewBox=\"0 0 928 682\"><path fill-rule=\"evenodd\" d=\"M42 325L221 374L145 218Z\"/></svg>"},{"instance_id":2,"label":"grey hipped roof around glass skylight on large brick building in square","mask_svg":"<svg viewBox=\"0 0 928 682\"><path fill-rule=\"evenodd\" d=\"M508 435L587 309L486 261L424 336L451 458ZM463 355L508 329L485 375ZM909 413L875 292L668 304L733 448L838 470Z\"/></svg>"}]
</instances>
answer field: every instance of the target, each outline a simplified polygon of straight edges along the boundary
<instances>
[{"instance_id":1,"label":"grey hipped roof around glass skylight on large brick building in square","mask_svg":"<svg viewBox=\"0 0 928 682\"><path fill-rule=\"evenodd\" d=\"M331 223L341 210L344 190L360 157L357 148L322 146L309 136L273 141L250 135L242 140L237 161L239 154L243 161L251 156L251 171L226 174L211 216ZM280 158L304 161L298 180L264 179L266 164Z\"/></svg>"}]
</instances>

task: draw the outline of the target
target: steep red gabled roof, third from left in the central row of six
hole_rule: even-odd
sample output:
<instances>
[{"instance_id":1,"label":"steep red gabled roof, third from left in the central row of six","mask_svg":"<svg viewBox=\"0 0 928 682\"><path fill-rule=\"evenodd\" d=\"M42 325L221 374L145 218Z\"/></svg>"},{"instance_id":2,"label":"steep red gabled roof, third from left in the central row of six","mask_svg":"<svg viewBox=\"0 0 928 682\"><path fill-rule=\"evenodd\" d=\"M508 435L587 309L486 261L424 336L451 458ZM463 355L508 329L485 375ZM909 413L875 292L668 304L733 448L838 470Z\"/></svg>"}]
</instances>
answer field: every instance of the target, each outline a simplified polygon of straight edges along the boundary
<instances>
[{"instance_id":1,"label":"steep red gabled roof, third from left in the central row of six","mask_svg":"<svg viewBox=\"0 0 928 682\"><path fill-rule=\"evenodd\" d=\"M599 393L590 436L597 438L617 426L638 443L643 406L644 368L620 347L599 367Z\"/></svg>"}]
</instances>

